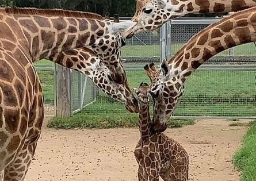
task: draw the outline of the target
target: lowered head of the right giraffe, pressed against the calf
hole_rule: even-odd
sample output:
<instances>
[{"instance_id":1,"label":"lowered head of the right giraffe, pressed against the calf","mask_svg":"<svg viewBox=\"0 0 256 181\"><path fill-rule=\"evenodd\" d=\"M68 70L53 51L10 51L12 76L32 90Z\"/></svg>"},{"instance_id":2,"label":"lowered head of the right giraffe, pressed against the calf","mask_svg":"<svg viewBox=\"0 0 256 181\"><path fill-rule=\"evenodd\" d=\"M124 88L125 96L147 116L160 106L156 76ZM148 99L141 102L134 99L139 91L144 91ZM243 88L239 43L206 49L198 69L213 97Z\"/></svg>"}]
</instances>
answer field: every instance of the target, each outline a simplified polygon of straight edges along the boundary
<instances>
[{"instance_id":1,"label":"lowered head of the right giraffe, pressed against the calf","mask_svg":"<svg viewBox=\"0 0 256 181\"><path fill-rule=\"evenodd\" d=\"M184 85L182 79L180 80L171 74L166 60L163 60L160 71L156 69L154 64L151 64L151 68L148 67L146 66L146 72L152 80L151 95L155 101L154 117L162 124L165 124L184 93ZM161 111L165 111L165 114L161 113ZM165 116L161 116L161 114Z\"/></svg>"}]
</instances>

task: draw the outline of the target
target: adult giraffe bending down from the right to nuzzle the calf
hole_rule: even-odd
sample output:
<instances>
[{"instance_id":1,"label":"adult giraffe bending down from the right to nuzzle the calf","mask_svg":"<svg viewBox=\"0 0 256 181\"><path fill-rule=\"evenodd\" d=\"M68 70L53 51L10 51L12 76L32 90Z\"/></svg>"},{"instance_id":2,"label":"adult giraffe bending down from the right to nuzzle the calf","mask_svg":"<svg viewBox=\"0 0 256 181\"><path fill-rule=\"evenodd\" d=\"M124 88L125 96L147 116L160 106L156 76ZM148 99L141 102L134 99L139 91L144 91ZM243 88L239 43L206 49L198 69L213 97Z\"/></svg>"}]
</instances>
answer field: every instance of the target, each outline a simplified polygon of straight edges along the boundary
<instances>
[{"instance_id":1,"label":"adult giraffe bending down from the right to nuzzle the calf","mask_svg":"<svg viewBox=\"0 0 256 181\"><path fill-rule=\"evenodd\" d=\"M154 64L145 66L147 75L151 78L152 96L163 93L165 100L165 120L168 120L184 95L186 80L205 61L228 48L256 41L256 7L239 11L232 16L223 18L201 30L190 38L168 62L164 60L161 70ZM158 103L154 112L157 116ZM154 115L155 117L155 115ZM155 119L161 128L162 121Z\"/></svg>"}]
</instances>

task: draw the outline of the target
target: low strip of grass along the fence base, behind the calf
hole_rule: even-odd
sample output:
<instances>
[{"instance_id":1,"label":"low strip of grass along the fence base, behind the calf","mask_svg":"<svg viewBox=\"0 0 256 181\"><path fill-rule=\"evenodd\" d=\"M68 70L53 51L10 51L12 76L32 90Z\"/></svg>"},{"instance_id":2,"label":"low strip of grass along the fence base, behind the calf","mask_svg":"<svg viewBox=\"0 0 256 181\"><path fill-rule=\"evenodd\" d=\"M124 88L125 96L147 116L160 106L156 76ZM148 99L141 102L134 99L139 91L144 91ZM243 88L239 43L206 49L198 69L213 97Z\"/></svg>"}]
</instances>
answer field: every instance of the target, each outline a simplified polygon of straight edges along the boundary
<instances>
[{"instance_id":1,"label":"low strip of grass along the fence base, behind the calf","mask_svg":"<svg viewBox=\"0 0 256 181\"><path fill-rule=\"evenodd\" d=\"M169 128L181 128L185 125L193 125L194 120L169 120ZM49 128L70 129L108 129L108 128L137 128L137 114L81 114L77 113L73 117L54 117L47 125Z\"/></svg>"}]
</instances>

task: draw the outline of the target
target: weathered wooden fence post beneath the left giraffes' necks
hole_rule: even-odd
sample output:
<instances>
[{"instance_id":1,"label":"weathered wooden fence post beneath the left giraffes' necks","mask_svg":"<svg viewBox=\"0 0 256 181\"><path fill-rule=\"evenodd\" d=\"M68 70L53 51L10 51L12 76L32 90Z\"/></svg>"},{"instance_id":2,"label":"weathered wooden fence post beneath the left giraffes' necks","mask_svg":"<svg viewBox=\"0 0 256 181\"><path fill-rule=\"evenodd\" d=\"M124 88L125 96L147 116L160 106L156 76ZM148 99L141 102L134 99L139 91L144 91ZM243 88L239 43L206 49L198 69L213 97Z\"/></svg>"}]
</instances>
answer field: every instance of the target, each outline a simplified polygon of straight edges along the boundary
<instances>
[{"instance_id":1,"label":"weathered wooden fence post beneath the left giraffes' necks","mask_svg":"<svg viewBox=\"0 0 256 181\"><path fill-rule=\"evenodd\" d=\"M59 117L71 116L71 70L63 66L58 66L56 82L56 115Z\"/></svg>"}]
</instances>

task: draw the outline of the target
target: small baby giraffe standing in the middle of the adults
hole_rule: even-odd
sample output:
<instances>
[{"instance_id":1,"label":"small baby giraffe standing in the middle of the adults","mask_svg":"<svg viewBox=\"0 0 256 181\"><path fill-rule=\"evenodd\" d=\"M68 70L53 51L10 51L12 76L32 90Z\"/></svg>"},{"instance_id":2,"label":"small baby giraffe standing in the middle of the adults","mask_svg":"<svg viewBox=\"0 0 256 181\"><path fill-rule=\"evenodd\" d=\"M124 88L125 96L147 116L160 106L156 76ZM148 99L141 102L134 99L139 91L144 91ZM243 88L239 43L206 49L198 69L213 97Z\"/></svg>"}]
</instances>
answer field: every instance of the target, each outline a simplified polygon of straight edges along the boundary
<instances>
[{"instance_id":1,"label":"small baby giraffe standing in the middle of the adults","mask_svg":"<svg viewBox=\"0 0 256 181\"><path fill-rule=\"evenodd\" d=\"M150 87L141 83L136 89L139 101L140 140L135 148L139 164L139 181L184 181L189 177L189 157L185 149L162 132L152 131L150 119ZM161 96L157 100L164 104ZM165 106L162 106L165 109ZM165 111L158 111L165 113ZM156 120L154 120L156 121Z\"/></svg>"}]
</instances>

